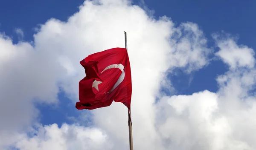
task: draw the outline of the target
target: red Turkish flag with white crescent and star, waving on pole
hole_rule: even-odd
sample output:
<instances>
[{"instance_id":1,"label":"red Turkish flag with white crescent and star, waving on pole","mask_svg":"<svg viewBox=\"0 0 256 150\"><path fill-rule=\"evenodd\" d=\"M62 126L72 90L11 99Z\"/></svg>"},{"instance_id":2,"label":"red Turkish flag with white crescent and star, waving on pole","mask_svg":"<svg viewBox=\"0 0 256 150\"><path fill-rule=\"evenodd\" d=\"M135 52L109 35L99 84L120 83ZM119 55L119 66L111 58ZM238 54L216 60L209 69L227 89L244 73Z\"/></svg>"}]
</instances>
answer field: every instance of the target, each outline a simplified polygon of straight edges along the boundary
<instances>
[{"instance_id":1,"label":"red Turkish flag with white crescent and star, waving on pole","mask_svg":"<svg viewBox=\"0 0 256 150\"><path fill-rule=\"evenodd\" d=\"M110 106L113 101L131 105L131 67L127 50L113 48L80 61L86 77L79 82L78 110Z\"/></svg>"}]
</instances>

